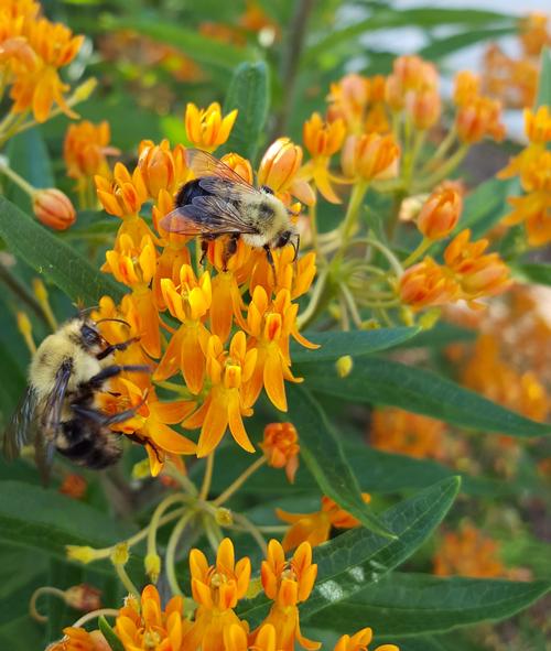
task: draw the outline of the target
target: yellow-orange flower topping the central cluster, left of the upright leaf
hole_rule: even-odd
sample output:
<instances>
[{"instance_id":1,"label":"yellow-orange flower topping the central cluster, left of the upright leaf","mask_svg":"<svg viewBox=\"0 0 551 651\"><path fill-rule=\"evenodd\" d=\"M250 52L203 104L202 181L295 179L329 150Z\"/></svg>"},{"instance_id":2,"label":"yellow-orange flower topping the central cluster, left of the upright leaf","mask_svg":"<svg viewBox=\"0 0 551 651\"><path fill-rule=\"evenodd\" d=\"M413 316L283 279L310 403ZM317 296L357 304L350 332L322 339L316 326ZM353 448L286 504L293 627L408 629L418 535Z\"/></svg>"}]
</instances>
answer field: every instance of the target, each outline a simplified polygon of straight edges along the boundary
<instances>
[{"instance_id":1,"label":"yellow-orange flower topping the central cluster, left of the upright leaf","mask_svg":"<svg viewBox=\"0 0 551 651\"><path fill-rule=\"evenodd\" d=\"M188 141L212 152L229 138L237 118L237 109L223 118L220 105L214 101L207 109L198 109L190 102L185 109L185 131Z\"/></svg>"}]
</instances>

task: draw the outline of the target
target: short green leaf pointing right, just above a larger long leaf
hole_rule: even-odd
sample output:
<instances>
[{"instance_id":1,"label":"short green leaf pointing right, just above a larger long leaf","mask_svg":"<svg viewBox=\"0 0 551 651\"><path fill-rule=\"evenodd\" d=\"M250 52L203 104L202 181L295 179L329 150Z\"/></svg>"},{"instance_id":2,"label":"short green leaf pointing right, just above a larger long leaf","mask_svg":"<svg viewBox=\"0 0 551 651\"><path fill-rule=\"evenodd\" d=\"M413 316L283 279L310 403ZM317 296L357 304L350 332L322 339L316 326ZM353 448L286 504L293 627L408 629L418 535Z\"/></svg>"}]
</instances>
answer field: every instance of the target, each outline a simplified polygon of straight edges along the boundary
<instances>
[{"instance_id":1,"label":"short green leaf pointing right, just above a larger long leaf","mask_svg":"<svg viewBox=\"0 0 551 651\"><path fill-rule=\"evenodd\" d=\"M292 341L291 359L295 364L315 364L321 360L336 360L343 355L357 357L403 344L418 333L420 333L420 328L409 327L354 330L350 333L305 332L302 335L313 344L320 344L320 348L309 350L300 346L296 341Z\"/></svg>"}]
</instances>

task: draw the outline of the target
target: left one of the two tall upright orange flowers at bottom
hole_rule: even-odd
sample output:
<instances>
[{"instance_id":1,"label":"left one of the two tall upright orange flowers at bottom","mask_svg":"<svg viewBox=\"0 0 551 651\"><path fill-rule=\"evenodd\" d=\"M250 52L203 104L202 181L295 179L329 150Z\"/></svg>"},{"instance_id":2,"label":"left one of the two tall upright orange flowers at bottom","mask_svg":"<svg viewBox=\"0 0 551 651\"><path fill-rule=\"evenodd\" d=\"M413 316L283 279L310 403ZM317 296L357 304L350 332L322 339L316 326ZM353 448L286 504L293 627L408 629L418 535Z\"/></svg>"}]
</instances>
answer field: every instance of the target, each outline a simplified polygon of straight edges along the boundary
<instances>
[{"instance_id":1,"label":"left one of the two tall upright orange flowers at bottom","mask_svg":"<svg viewBox=\"0 0 551 651\"><path fill-rule=\"evenodd\" d=\"M234 544L226 538L218 546L216 564L208 565L199 550L190 553L192 594L198 608L195 611L193 630L185 639L186 649L209 649L224 651L224 631L237 626L247 632L234 608L245 597L250 581L250 560L235 562ZM226 638L229 631L226 633ZM235 640L236 634L231 636Z\"/></svg>"}]
</instances>

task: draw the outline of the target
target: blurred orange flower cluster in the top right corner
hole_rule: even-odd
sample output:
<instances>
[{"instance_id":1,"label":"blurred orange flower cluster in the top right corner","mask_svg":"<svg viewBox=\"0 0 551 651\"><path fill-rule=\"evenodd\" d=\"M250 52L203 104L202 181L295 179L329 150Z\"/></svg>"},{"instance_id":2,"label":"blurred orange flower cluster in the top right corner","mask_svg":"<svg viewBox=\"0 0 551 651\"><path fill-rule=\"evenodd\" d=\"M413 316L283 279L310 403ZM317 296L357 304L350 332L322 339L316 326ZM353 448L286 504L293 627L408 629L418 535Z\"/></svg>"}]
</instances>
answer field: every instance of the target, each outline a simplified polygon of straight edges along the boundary
<instances>
[{"instance_id":1,"label":"blurred orange flower cluster in the top right corner","mask_svg":"<svg viewBox=\"0 0 551 651\"><path fill-rule=\"evenodd\" d=\"M519 56L510 56L497 43L491 43L484 55L483 69L483 84L488 95L514 108L533 105L541 51L551 44L549 17L544 13L528 14L519 26Z\"/></svg>"}]
</instances>

